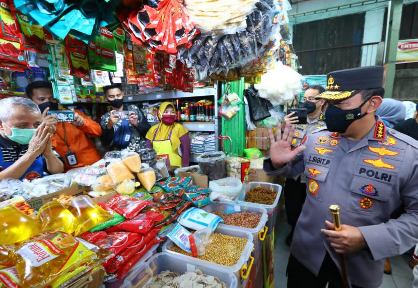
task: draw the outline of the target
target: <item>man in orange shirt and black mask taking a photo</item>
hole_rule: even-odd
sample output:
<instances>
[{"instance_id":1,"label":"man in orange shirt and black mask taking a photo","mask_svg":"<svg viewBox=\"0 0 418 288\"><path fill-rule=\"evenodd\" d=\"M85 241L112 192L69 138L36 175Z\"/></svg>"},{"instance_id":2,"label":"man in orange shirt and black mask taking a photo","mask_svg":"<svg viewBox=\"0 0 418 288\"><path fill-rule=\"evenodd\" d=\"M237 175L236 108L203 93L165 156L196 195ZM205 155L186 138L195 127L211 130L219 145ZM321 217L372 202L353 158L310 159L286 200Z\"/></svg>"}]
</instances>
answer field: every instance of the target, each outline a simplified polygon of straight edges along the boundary
<instances>
[{"instance_id":1,"label":"man in orange shirt and black mask taking a photo","mask_svg":"<svg viewBox=\"0 0 418 288\"><path fill-rule=\"evenodd\" d=\"M100 125L79 110L74 110L73 122L58 123L55 117L46 115L49 110L58 110L57 100L53 98L52 85L47 81L35 81L26 87L27 96L42 112L43 122L55 128L52 146L65 159L64 171L91 165L102 157L88 137L100 137Z\"/></svg>"}]
</instances>

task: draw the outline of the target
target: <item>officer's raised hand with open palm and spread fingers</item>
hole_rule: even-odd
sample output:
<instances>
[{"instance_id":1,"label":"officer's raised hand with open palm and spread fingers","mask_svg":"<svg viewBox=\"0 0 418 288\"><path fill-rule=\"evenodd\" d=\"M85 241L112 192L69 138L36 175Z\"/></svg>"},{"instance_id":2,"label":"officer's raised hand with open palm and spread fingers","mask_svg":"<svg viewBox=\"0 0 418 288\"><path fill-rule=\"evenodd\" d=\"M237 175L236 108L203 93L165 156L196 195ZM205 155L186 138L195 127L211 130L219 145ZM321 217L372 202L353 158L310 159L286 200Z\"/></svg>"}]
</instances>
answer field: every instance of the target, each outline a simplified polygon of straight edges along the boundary
<instances>
[{"instance_id":1,"label":"officer's raised hand with open palm and spread fingers","mask_svg":"<svg viewBox=\"0 0 418 288\"><path fill-rule=\"evenodd\" d=\"M292 150L291 141L295 133L295 126L287 122L283 135L281 126L282 124L278 123L276 140L274 140L273 132L268 130L268 136L270 137L270 160L276 169L282 168L292 161L299 152L306 149L305 146L299 146Z\"/></svg>"}]
</instances>

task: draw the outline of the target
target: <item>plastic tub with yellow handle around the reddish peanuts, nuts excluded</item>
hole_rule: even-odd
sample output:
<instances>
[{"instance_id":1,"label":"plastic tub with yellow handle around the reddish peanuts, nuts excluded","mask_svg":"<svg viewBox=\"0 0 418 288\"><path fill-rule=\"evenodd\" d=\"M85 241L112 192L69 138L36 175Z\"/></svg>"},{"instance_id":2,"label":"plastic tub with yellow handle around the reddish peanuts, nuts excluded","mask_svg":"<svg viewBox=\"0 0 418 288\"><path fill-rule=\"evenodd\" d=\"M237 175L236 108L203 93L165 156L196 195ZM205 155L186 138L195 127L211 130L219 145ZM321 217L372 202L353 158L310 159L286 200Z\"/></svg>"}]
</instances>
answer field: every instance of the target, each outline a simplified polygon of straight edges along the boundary
<instances>
[{"instance_id":1,"label":"plastic tub with yellow handle around the reddish peanuts, nuts excluded","mask_svg":"<svg viewBox=\"0 0 418 288\"><path fill-rule=\"evenodd\" d=\"M227 202L227 201L221 201L221 202L212 202L209 205L203 206L201 208L202 210L214 213L214 212L220 212L222 214L232 214L232 213L242 213L242 212L248 212L248 213L255 213L255 214L261 214L260 221L258 222L257 226L255 228L246 228L241 226L232 226L232 225L226 225L226 224L218 224L219 226L227 226L227 227L239 227L243 231L247 231L252 234L253 236L253 243L254 243L254 257L255 262L258 260L258 256L260 255L261 249L263 247L263 242L265 240L265 236L268 232L268 227L266 226L267 222L267 210L264 207L261 207L260 205L253 205L249 202L245 203L235 203L235 202Z\"/></svg>"}]
</instances>

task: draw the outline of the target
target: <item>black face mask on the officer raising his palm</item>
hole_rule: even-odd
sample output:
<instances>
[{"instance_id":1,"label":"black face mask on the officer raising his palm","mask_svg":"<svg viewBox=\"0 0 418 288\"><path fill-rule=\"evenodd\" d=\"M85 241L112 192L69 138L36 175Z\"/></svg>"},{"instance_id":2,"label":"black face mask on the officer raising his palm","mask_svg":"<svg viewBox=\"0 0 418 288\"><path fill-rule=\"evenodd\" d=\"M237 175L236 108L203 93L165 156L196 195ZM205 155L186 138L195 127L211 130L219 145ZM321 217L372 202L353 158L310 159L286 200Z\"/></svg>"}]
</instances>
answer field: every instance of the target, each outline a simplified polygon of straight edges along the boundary
<instances>
[{"instance_id":1,"label":"black face mask on the officer raising his palm","mask_svg":"<svg viewBox=\"0 0 418 288\"><path fill-rule=\"evenodd\" d=\"M364 101L359 107L350 110L343 110L335 105L329 105L325 111L325 124L328 131L345 133L353 122L367 114L362 114L362 107L367 101L369 100Z\"/></svg>"}]
</instances>

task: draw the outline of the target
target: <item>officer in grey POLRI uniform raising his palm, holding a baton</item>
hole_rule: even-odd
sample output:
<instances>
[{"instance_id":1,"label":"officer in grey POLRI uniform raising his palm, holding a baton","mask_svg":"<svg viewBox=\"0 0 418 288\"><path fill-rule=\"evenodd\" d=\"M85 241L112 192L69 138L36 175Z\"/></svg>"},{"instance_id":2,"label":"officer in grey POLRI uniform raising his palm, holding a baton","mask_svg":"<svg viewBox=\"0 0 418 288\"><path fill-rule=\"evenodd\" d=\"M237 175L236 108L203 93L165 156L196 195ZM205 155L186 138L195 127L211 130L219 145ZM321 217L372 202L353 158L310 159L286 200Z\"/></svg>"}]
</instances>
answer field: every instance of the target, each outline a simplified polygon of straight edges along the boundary
<instances>
[{"instance_id":1,"label":"officer in grey POLRI uniform raising his palm, holding a baton","mask_svg":"<svg viewBox=\"0 0 418 288\"><path fill-rule=\"evenodd\" d=\"M307 177L307 197L296 224L288 287L341 287L338 254L353 287L378 287L385 258L418 242L418 142L385 127L375 111L382 103L383 67L334 71L317 98L329 106L327 128L291 148L295 128L270 132L268 175ZM329 211L341 207L342 231ZM403 204L405 213L390 219Z\"/></svg>"}]
</instances>

